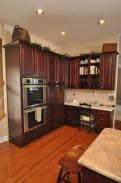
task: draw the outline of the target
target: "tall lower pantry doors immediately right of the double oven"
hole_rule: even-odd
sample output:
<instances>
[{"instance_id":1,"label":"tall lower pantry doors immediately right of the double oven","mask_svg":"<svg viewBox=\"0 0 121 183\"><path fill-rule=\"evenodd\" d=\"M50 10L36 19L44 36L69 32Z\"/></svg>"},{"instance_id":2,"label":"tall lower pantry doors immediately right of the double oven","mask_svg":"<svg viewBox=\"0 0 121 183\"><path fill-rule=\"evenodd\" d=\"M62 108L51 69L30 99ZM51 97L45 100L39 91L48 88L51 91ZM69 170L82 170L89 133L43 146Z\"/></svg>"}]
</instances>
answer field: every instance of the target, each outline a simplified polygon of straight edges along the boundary
<instances>
[{"instance_id":1,"label":"tall lower pantry doors immediately right of the double oven","mask_svg":"<svg viewBox=\"0 0 121 183\"><path fill-rule=\"evenodd\" d=\"M49 85L47 98L47 118L53 130L64 123L64 85Z\"/></svg>"}]
</instances>

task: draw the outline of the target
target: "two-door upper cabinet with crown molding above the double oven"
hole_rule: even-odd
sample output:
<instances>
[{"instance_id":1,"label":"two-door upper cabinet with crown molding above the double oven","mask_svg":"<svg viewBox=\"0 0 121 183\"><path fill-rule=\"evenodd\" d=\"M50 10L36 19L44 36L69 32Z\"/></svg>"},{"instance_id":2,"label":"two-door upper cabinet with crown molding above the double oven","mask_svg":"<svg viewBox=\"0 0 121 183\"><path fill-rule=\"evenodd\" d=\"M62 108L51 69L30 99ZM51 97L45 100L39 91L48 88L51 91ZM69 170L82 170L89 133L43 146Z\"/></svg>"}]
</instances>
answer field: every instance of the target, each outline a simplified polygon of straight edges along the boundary
<instances>
[{"instance_id":1,"label":"two-door upper cabinet with crown molding above the double oven","mask_svg":"<svg viewBox=\"0 0 121 183\"><path fill-rule=\"evenodd\" d=\"M5 46L10 57L19 63L21 77L47 78L46 54L16 41Z\"/></svg>"}]
</instances>

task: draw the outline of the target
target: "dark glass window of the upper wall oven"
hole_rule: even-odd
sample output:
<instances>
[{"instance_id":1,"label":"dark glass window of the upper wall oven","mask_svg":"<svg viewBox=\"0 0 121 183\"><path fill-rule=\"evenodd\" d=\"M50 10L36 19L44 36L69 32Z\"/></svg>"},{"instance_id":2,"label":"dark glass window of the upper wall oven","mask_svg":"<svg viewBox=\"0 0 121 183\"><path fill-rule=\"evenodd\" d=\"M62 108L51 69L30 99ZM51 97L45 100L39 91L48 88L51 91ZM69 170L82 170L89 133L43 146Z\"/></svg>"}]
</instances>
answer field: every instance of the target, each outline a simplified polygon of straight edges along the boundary
<instances>
[{"instance_id":1,"label":"dark glass window of the upper wall oven","mask_svg":"<svg viewBox=\"0 0 121 183\"><path fill-rule=\"evenodd\" d=\"M27 88L28 105L43 103L43 87Z\"/></svg>"}]
</instances>

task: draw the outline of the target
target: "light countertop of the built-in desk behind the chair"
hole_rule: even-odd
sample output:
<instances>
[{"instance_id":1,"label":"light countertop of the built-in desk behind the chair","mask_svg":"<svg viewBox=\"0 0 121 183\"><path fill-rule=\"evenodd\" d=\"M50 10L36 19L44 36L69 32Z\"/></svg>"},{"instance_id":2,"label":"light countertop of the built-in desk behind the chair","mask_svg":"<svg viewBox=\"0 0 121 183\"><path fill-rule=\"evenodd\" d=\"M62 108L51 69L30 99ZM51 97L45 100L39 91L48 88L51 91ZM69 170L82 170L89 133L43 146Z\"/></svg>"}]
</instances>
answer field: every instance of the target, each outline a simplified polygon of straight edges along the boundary
<instances>
[{"instance_id":1,"label":"light countertop of the built-in desk behind the chair","mask_svg":"<svg viewBox=\"0 0 121 183\"><path fill-rule=\"evenodd\" d=\"M65 102L64 105L71 105L71 106L77 106L79 107L79 102ZM103 110L103 111L113 111L114 107L112 106L106 106L106 105L91 105L92 109L97 109L97 110Z\"/></svg>"}]
</instances>

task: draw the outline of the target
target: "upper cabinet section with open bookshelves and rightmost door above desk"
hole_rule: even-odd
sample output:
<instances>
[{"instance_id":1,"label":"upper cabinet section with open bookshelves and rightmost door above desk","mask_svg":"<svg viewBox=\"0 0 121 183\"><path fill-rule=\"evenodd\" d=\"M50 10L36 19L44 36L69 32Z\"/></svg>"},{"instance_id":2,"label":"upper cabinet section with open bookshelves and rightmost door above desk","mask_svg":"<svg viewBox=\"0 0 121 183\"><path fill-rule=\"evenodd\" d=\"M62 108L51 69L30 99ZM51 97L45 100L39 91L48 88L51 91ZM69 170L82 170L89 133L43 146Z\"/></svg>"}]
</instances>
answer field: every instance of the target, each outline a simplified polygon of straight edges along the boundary
<instances>
[{"instance_id":1,"label":"upper cabinet section with open bookshelves and rightmost door above desk","mask_svg":"<svg viewBox=\"0 0 121 183\"><path fill-rule=\"evenodd\" d=\"M80 57L80 88L113 90L117 53Z\"/></svg>"}]
</instances>

